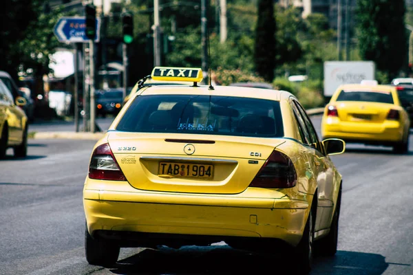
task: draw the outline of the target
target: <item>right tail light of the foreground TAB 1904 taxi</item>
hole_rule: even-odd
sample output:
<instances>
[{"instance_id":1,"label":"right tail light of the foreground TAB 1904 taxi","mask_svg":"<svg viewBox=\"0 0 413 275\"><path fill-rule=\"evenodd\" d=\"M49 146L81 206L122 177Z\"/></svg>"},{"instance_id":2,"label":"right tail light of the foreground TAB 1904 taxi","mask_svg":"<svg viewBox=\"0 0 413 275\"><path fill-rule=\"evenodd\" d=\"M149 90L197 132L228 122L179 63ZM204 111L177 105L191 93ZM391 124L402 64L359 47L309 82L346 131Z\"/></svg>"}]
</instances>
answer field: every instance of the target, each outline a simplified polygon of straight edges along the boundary
<instances>
[{"instance_id":1,"label":"right tail light of the foreground TAB 1904 taxi","mask_svg":"<svg viewBox=\"0 0 413 275\"><path fill-rule=\"evenodd\" d=\"M284 153L273 151L249 186L290 188L295 184L297 184L297 173L293 162Z\"/></svg>"}]
</instances>

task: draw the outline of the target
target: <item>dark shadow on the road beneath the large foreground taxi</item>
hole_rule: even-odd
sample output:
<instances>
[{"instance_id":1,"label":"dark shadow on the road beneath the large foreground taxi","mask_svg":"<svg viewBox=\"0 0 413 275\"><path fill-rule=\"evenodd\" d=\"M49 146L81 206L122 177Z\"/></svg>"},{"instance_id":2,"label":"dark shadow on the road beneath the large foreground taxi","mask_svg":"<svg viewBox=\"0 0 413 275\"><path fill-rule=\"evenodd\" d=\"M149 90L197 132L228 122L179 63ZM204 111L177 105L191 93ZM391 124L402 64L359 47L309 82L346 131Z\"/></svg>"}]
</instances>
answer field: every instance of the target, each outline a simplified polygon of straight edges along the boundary
<instances>
[{"instance_id":1,"label":"dark shadow on the road beneath the large foreground taxi","mask_svg":"<svg viewBox=\"0 0 413 275\"><path fill-rule=\"evenodd\" d=\"M143 250L118 261L114 274L294 274L297 264L285 254L261 254L220 247ZM335 257L317 257L311 274L379 275L388 263L379 254L339 251Z\"/></svg>"}]
</instances>

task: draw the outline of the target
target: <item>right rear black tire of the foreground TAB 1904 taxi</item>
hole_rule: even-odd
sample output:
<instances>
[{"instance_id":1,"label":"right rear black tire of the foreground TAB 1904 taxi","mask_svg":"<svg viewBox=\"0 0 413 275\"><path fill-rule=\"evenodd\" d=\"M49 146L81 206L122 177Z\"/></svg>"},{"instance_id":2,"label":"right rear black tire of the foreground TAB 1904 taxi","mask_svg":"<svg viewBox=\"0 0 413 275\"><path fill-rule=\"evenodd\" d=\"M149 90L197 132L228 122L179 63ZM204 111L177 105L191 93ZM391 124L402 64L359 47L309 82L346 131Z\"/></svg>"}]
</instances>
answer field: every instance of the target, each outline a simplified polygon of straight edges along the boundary
<instances>
[{"instance_id":1,"label":"right rear black tire of the foreground TAB 1904 taxi","mask_svg":"<svg viewBox=\"0 0 413 275\"><path fill-rule=\"evenodd\" d=\"M313 210L308 214L306 228L301 241L295 248L295 255L297 261L297 274L308 274L313 264L313 248L314 245L314 221Z\"/></svg>"}]
</instances>

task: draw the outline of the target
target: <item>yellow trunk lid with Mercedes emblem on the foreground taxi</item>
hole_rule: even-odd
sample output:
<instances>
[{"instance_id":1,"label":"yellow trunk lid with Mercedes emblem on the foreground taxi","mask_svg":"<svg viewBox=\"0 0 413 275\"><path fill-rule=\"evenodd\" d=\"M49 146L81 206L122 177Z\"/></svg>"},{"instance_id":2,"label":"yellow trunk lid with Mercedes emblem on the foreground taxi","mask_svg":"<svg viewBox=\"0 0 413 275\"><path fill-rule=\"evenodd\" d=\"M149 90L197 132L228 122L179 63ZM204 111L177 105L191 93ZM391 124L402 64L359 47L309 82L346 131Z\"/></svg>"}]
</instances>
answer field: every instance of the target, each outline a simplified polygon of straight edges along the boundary
<instances>
[{"instance_id":1,"label":"yellow trunk lid with Mercedes emblem on the foreground taxi","mask_svg":"<svg viewBox=\"0 0 413 275\"><path fill-rule=\"evenodd\" d=\"M282 138L112 132L109 146L134 188L234 194L245 190Z\"/></svg>"}]
</instances>

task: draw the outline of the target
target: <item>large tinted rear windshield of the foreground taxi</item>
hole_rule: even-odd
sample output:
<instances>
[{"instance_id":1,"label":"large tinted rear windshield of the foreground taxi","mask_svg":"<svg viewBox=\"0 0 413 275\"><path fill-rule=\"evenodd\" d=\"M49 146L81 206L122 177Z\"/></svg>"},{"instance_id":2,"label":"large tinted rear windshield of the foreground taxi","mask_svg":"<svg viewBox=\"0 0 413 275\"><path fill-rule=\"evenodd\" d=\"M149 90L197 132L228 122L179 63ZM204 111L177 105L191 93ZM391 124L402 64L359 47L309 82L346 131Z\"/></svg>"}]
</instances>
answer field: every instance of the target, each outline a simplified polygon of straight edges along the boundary
<instances>
[{"instance_id":1,"label":"large tinted rear windshield of the foreground taxi","mask_svg":"<svg viewBox=\"0 0 413 275\"><path fill-rule=\"evenodd\" d=\"M138 96L118 131L282 137L279 102L195 95Z\"/></svg>"}]
</instances>

